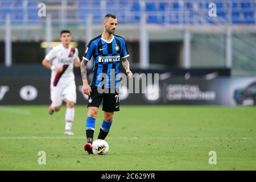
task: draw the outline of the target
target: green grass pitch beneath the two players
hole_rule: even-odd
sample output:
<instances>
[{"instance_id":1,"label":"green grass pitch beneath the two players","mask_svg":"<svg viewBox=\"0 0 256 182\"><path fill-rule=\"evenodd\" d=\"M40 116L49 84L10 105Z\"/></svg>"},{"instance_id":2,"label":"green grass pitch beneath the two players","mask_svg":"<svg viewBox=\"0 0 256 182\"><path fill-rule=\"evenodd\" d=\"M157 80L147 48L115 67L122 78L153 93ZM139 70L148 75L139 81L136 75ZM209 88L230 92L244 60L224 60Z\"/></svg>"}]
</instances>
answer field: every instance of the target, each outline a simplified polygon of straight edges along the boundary
<instances>
[{"instance_id":1,"label":"green grass pitch beneath the two players","mask_svg":"<svg viewBox=\"0 0 256 182\"><path fill-rule=\"evenodd\" d=\"M74 137L65 107L0 106L0 170L255 170L256 108L122 106L106 141L109 154L84 151L86 106L75 107ZM96 119L97 138L102 111ZM38 152L46 164L38 164ZM209 164L216 151L217 164Z\"/></svg>"}]
</instances>

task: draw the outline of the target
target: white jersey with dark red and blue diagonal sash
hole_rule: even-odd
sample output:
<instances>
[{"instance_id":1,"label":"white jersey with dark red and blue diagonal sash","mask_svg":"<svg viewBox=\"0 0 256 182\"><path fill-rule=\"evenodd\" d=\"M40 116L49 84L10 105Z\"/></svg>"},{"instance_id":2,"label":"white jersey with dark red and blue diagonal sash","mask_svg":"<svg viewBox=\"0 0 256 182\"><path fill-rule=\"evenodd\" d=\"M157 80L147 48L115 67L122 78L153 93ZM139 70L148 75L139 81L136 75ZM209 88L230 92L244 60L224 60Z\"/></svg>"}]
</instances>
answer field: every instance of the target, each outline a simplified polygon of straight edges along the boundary
<instances>
[{"instance_id":1,"label":"white jersey with dark red and blue diagonal sash","mask_svg":"<svg viewBox=\"0 0 256 182\"><path fill-rule=\"evenodd\" d=\"M63 68L61 73L52 71L51 74L51 86L65 85L71 81L75 81L75 75L73 73L74 61L79 60L79 52L77 48L69 46L66 49L63 44L55 46L46 55L46 60L51 61L52 65L56 68Z\"/></svg>"}]
</instances>

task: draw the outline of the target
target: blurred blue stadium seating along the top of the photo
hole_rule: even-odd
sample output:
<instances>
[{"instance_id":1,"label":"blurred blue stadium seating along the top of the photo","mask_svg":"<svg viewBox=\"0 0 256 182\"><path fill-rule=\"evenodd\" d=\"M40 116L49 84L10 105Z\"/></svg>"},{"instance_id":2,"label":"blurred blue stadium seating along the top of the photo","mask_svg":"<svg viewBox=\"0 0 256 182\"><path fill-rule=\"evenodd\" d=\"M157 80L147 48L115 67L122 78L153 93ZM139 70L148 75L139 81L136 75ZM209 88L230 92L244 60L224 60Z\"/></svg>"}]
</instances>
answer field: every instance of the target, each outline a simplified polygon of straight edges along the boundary
<instances>
[{"instance_id":1,"label":"blurred blue stadium seating along the top of the photo","mask_svg":"<svg viewBox=\"0 0 256 182\"><path fill-rule=\"evenodd\" d=\"M53 19L58 19L60 16L60 0L49 1L44 3L47 5L47 10L53 15ZM209 3L211 1L144 1L144 11L147 15L147 23L156 24L197 24L202 23L201 13L208 13ZM182 3L183 2L183 3ZM255 1L253 0L217 0L214 1L217 5L217 16L220 17L217 21L224 19L234 24L254 24L255 23ZM27 6L26 6L27 3ZM15 23L22 23L24 15L28 14L28 23L39 23L43 18L37 15L39 1L36 0L0 0L0 23L5 22L7 14L11 15L11 20ZM111 5L111 6L110 6ZM26 7L26 8L24 8ZM101 21L100 10L108 7L108 12L120 14L119 20L123 23L138 23L140 20L139 14L143 10L143 6L139 1L68 1L67 2L67 19L77 22L84 22L88 14L93 15L96 22ZM121 9L120 7L126 7ZM200 9L200 11L199 11ZM105 10L106 11L106 10ZM86 12L86 13L84 13ZM102 11L101 11L102 12ZM103 11L104 12L104 11ZM213 23L208 17L203 19L204 23ZM218 22L221 23L221 22Z\"/></svg>"}]
</instances>

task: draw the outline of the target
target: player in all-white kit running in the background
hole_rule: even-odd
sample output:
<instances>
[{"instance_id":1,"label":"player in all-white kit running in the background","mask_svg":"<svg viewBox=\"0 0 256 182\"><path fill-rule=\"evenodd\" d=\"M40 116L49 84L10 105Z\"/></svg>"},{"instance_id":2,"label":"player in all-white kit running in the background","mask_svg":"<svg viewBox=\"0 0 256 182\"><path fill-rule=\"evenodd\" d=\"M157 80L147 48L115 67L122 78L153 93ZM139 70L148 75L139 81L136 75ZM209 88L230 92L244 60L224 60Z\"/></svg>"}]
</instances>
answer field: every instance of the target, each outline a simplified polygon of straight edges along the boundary
<instances>
[{"instance_id":1,"label":"player in all-white kit running in the background","mask_svg":"<svg viewBox=\"0 0 256 182\"><path fill-rule=\"evenodd\" d=\"M42 64L51 69L51 101L49 114L59 111L62 102L66 102L65 135L73 135L71 131L75 117L74 105L76 104L76 84L73 66L80 67L79 52L73 48L71 43L71 32L63 30L60 32L61 44L53 47L46 55Z\"/></svg>"}]
</instances>

